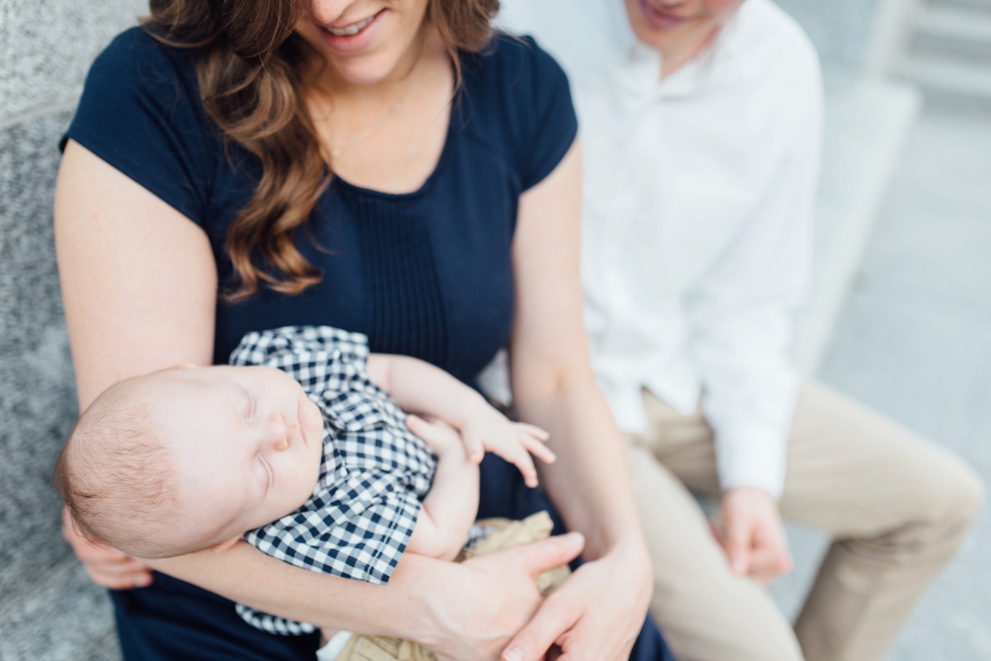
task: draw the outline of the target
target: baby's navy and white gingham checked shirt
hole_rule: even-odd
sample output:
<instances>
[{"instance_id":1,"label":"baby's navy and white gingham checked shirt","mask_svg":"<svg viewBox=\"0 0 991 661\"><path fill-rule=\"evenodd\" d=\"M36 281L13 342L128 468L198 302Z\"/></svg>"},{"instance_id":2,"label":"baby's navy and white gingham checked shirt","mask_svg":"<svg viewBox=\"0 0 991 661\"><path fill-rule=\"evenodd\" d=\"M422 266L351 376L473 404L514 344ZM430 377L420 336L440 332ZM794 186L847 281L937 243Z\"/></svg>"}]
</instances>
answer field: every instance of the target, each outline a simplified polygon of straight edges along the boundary
<instances>
[{"instance_id":1,"label":"baby's navy and white gingham checked shirt","mask_svg":"<svg viewBox=\"0 0 991 661\"><path fill-rule=\"evenodd\" d=\"M369 381L368 339L327 326L249 333L231 365L278 368L323 411L323 462L313 496L245 540L313 572L385 584L412 534L436 460L405 414ZM298 635L312 624L237 606L249 623Z\"/></svg>"}]
</instances>

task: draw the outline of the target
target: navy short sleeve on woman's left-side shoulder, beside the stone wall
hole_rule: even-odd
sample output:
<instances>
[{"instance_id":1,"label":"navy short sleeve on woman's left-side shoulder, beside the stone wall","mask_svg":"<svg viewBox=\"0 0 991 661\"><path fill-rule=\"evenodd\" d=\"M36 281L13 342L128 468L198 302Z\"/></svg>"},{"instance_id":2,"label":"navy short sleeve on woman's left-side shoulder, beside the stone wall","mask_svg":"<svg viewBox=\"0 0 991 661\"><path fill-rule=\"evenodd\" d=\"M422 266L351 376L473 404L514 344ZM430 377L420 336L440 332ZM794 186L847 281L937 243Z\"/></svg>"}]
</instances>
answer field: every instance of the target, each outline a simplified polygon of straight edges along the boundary
<instances>
[{"instance_id":1,"label":"navy short sleeve on woman's left-side shoulder, beside the stone wall","mask_svg":"<svg viewBox=\"0 0 991 661\"><path fill-rule=\"evenodd\" d=\"M218 130L189 57L141 28L117 37L90 67L59 147L74 140L202 226Z\"/></svg>"}]
</instances>

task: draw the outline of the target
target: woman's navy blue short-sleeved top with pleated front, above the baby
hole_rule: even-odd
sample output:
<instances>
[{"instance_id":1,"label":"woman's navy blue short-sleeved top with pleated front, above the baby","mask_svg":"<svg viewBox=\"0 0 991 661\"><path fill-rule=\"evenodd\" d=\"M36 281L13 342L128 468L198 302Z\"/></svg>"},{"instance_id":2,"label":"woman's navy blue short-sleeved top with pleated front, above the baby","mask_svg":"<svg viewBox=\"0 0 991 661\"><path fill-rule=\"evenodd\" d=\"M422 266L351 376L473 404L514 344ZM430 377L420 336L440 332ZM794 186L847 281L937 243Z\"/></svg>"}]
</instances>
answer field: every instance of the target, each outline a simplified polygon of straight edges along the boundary
<instances>
[{"instance_id":1,"label":"woman's navy blue short-sleeved top with pleated front, above the baby","mask_svg":"<svg viewBox=\"0 0 991 661\"><path fill-rule=\"evenodd\" d=\"M235 283L227 227L261 165L237 146L225 155L191 56L140 28L120 35L93 63L62 144L75 140L202 227L223 289ZM323 281L297 295L264 289L218 301L215 363L250 331L329 325L368 335L374 352L471 381L505 345L517 201L564 157L577 120L564 72L528 38L496 34L462 63L464 87L426 182L396 195L335 177L310 218L327 250L306 232L296 241Z\"/></svg>"}]
</instances>

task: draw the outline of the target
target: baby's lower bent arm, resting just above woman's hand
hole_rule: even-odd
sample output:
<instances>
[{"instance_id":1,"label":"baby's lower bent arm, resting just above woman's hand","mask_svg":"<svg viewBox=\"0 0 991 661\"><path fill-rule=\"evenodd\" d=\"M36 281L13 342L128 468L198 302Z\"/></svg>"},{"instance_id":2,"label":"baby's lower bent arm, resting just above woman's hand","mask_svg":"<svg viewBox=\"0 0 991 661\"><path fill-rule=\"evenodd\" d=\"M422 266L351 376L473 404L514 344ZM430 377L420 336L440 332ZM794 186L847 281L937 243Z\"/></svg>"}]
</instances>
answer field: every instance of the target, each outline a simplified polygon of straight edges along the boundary
<instances>
[{"instance_id":1,"label":"baby's lower bent arm, resting just above woman's hand","mask_svg":"<svg viewBox=\"0 0 991 661\"><path fill-rule=\"evenodd\" d=\"M454 560L479 510L479 467L468 461L458 432L443 422L410 417L409 428L437 455L437 469L406 550Z\"/></svg>"}]
</instances>

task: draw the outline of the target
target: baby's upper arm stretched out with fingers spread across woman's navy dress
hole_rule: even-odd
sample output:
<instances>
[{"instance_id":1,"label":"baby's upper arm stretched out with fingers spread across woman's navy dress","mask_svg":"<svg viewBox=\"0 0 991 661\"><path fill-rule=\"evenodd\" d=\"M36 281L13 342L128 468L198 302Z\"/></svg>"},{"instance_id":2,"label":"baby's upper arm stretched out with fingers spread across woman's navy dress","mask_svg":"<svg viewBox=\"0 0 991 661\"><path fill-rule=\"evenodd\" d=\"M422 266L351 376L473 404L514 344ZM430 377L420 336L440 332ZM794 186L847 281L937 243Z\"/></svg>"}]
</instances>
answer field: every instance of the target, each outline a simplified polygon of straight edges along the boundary
<instances>
[{"instance_id":1,"label":"baby's upper arm stretched out with fingers spread across woman's navy dress","mask_svg":"<svg viewBox=\"0 0 991 661\"><path fill-rule=\"evenodd\" d=\"M372 354L368 372L400 408L439 418L461 432L468 458L476 464L489 450L514 464L527 486L536 487L537 471L530 453L547 463L555 460L544 445L547 432L511 422L481 394L429 363L408 356Z\"/></svg>"}]
</instances>

